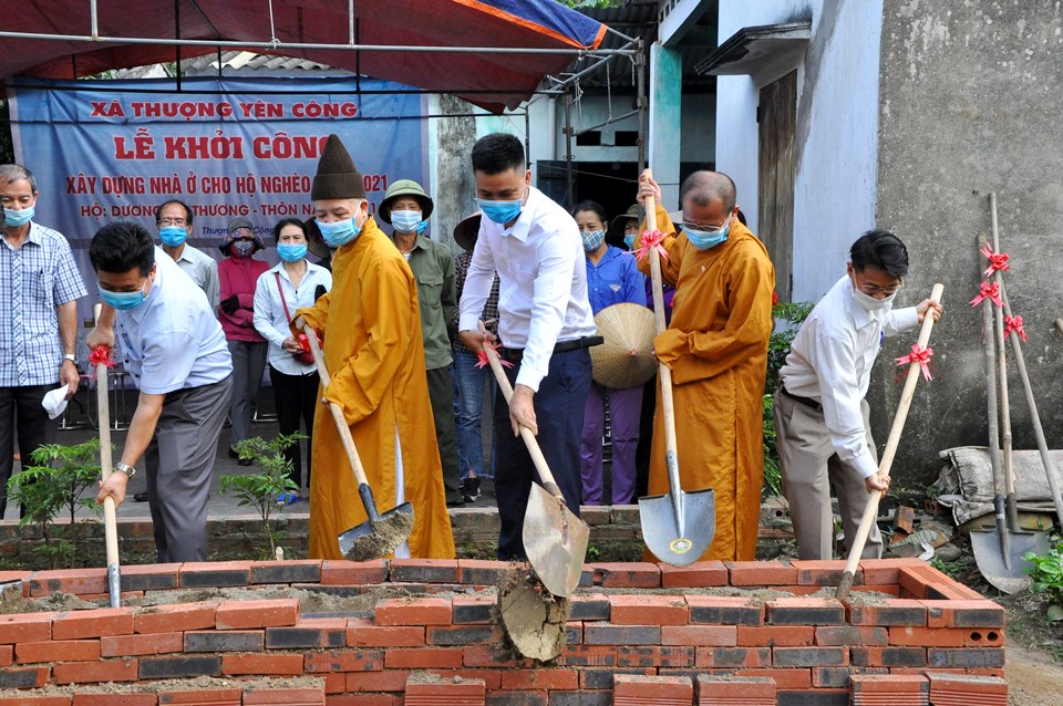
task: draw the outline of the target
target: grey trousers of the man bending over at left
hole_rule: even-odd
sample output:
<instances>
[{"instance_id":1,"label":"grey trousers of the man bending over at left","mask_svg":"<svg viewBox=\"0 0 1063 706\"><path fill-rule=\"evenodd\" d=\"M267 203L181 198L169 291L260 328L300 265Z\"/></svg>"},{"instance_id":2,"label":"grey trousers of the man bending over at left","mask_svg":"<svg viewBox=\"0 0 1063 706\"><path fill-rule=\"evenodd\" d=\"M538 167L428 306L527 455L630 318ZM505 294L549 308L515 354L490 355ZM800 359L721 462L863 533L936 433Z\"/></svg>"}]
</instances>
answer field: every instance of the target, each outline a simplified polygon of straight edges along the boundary
<instances>
[{"instance_id":1,"label":"grey trousers of the man bending over at left","mask_svg":"<svg viewBox=\"0 0 1063 706\"><path fill-rule=\"evenodd\" d=\"M168 393L144 455L158 563L207 560L207 500L233 377Z\"/></svg>"}]
</instances>

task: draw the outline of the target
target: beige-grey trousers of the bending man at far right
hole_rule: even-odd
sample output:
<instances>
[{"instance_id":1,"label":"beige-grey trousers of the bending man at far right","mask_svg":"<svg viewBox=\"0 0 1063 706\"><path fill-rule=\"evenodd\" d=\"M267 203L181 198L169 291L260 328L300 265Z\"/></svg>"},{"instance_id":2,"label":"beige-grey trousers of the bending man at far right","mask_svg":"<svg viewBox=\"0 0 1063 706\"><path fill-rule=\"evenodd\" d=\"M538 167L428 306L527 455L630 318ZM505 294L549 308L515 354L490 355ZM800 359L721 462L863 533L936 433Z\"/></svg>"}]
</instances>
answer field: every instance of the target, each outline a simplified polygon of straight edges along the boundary
<instances>
[{"instance_id":1,"label":"beige-grey trousers of the bending man at far right","mask_svg":"<svg viewBox=\"0 0 1063 706\"><path fill-rule=\"evenodd\" d=\"M867 401L860 401L867 447L875 460L878 453L868 423ZM830 489L838 497L842 528L853 541L860 527L864 509L871 496L864 478L850 464L838 458L823 412L817 412L782 392L775 393L775 434L783 474L783 495L789 502L797 552L802 559L833 559L834 512ZM865 559L883 556L883 536L871 523L864 546Z\"/></svg>"}]
</instances>

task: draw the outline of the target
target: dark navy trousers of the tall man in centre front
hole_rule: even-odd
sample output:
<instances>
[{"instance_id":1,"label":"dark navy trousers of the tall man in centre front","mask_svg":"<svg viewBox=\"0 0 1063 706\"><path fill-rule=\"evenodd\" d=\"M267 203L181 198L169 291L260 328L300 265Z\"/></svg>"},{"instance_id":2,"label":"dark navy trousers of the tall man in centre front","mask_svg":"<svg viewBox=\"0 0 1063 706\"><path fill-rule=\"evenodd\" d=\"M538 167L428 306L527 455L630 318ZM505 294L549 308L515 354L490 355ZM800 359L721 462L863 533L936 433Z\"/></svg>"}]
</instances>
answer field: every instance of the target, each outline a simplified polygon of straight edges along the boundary
<instances>
[{"instance_id":1,"label":"dark navy trousers of the tall man in centre front","mask_svg":"<svg viewBox=\"0 0 1063 706\"><path fill-rule=\"evenodd\" d=\"M520 365L506 370L516 383ZM590 390L590 353L587 349L555 353L539 391L535 393L535 421L539 427L536 440L543 450L554 480L565 496L565 503L577 517L582 494L579 473L579 443L584 432L584 406ZM498 498L498 559L510 561L527 557L524 550L524 513L528 507L532 482L539 476L532 463L524 439L513 435L509 405L505 397L495 397L495 495Z\"/></svg>"}]
</instances>

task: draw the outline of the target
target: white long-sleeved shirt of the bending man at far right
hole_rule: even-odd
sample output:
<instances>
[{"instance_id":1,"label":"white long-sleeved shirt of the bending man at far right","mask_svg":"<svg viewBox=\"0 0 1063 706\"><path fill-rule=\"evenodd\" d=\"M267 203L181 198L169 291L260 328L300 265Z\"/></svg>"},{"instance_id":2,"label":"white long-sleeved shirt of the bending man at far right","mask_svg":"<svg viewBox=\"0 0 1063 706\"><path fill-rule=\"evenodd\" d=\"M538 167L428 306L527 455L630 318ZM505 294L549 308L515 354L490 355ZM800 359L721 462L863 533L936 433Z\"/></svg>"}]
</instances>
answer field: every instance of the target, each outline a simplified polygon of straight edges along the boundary
<instances>
[{"instance_id":1,"label":"white long-sleeved shirt of the bending man at far right","mask_svg":"<svg viewBox=\"0 0 1063 706\"><path fill-rule=\"evenodd\" d=\"M794 338L780 378L787 392L823 405L830 443L843 461L864 478L878 473L867 448L860 401L867 395L871 365L883 340L919 323L915 307L874 313L854 297L848 276L819 300Z\"/></svg>"}]
</instances>

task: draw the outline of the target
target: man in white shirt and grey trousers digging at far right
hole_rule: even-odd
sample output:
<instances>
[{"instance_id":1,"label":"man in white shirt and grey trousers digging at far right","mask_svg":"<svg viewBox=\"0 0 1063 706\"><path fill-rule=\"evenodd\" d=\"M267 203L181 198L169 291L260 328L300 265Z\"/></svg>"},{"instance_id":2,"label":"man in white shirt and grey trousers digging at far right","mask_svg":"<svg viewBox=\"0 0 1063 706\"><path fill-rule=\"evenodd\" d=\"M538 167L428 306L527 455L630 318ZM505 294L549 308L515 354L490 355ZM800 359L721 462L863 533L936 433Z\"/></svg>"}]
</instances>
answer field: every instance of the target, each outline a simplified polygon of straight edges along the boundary
<instances>
[{"instance_id":1,"label":"man in white shirt and grey trousers digging at far right","mask_svg":"<svg viewBox=\"0 0 1063 706\"><path fill-rule=\"evenodd\" d=\"M834 512L830 489L846 538L856 536L873 492L889 488L878 473L875 440L864 396L871 366L888 335L907 331L941 304L894 309L908 273L908 250L891 232L869 230L853 243L846 274L801 325L775 393L783 491L789 501L802 559L832 559ZM871 523L865 559L883 554L883 538Z\"/></svg>"}]
</instances>

